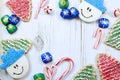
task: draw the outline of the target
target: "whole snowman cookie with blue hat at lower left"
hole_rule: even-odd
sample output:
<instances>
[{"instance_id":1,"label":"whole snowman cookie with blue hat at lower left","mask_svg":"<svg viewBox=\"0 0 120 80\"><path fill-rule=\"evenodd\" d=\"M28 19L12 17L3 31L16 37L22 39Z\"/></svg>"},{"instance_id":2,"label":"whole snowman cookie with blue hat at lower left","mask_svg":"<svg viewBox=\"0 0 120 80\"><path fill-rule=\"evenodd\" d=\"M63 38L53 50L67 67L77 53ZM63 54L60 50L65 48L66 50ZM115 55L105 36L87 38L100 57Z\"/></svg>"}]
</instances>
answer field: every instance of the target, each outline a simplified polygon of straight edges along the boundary
<instances>
[{"instance_id":1,"label":"whole snowman cookie with blue hat at lower left","mask_svg":"<svg viewBox=\"0 0 120 80\"><path fill-rule=\"evenodd\" d=\"M24 54L24 50L16 51L14 48L10 48L1 57L0 69L6 70L15 79L24 77L29 70L29 62Z\"/></svg>"}]
</instances>

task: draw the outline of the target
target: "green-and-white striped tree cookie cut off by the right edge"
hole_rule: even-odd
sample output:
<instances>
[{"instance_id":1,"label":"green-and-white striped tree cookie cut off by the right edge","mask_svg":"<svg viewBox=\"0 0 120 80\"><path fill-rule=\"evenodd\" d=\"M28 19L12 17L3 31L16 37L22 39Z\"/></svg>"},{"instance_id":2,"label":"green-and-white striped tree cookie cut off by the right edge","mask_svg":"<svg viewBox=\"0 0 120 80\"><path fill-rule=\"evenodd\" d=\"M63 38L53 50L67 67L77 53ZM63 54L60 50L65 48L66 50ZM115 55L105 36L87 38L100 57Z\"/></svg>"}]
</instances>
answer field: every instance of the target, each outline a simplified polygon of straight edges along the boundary
<instances>
[{"instance_id":1,"label":"green-and-white striped tree cookie cut off by the right edge","mask_svg":"<svg viewBox=\"0 0 120 80\"><path fill-rule=\"evenodd\" d=\"M105 43L109 46L120 49L120 21L118 21L109 33Z\"/></svg>"}]
</instances>

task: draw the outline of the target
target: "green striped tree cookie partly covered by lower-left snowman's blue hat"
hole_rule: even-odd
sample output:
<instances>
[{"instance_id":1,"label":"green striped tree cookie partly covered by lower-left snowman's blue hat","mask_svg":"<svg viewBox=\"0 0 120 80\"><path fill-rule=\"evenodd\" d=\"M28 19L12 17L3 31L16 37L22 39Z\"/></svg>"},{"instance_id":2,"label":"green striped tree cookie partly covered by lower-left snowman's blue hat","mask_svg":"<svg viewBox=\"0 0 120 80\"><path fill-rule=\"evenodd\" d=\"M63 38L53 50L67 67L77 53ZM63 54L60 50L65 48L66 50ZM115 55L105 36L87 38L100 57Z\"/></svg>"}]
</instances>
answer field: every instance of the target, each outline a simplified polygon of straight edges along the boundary
<instances>
[{"instance_id":1,"label":"green striped tree cookie partly covered by lower-left snowman's blue hat","mask_svg":"<svg viewBox=\"0 0 120 80\"><path fill-rule=\"evenodd\" d=\"M14 48L16 50L23 49L27 53L32 46L31 41L25 39L2 40L1 43L4 51Z\"/></svg>"}]
</instances>

